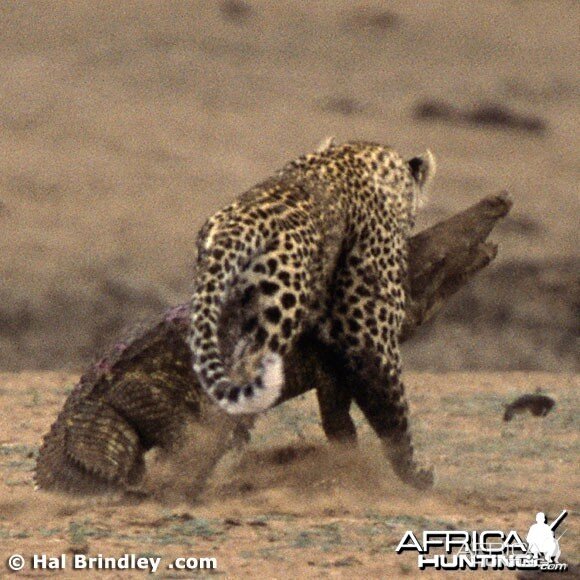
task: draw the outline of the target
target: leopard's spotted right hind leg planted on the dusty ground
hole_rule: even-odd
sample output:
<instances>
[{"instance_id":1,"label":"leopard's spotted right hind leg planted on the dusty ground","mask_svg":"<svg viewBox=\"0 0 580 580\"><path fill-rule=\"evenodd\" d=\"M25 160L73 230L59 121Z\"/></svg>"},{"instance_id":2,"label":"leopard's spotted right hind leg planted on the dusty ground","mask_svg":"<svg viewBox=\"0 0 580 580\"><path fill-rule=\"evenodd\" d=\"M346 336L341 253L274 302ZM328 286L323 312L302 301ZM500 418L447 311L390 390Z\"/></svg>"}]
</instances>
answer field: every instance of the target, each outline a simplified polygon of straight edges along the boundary
<instances>
[{"instance_id":1,"label":"leopard's spotted right hind leg planted on the dusty ground","mask_svg":"<svg viewBox=\"0 0 580 580\"><path fill-rule=\"evenodd\" d=\"M404 293L379 268L352 255L337 270L333 304L324 334L342 353L341 380L384 443L393 469L420 488L433 484L433 474L420 469L413 453L409 406L401 380L398 334L404 315ZM394 279L394 278L393 278ZM342 374L342 373L341 373Z\"/></svg>"}]
</instances>

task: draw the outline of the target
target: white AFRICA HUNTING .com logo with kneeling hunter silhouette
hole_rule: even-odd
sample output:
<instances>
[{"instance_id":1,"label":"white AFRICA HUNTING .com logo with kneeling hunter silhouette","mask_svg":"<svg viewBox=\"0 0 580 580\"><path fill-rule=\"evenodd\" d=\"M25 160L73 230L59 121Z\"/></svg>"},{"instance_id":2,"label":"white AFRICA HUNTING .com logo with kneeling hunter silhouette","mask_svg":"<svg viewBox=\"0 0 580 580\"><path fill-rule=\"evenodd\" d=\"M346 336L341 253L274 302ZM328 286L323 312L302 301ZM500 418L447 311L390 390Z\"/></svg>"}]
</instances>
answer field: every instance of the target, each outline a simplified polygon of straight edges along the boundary
<instances>
[{"instance_id":1,"label":"white AFRICA HUNTING .com logo with kneeling hunter silhouette","mask_svg":"<svg viewBox=\"0 0 580 580\"><path fill-rule=\"evenodd\" d=\"M426 530L420 536L421 541L412 531L407 531L396 552L400 554L416 551L420 570L508 569L561 572L568 568L567 564L559 562L559 540L565 532L556 538L556 528L567 515L568 512L564 510L551 524L547 524L546 516L539 512L525 541L514 530L507 534L501 530Z\"/></svg>"}]
</instances>

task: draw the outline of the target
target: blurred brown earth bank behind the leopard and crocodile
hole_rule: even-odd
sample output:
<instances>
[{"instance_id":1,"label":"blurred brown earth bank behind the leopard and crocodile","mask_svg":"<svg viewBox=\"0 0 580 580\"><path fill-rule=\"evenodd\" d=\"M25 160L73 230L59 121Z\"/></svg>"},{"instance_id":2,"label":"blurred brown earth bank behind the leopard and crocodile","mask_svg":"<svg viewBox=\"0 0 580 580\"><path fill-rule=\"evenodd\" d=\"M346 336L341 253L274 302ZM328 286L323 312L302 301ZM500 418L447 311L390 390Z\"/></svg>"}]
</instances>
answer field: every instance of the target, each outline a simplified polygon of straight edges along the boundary
<instances>
[{"instance_id":1,"label":"blurred brown earth bank behind the leopard and crocodile","mask_svg":"<svg viewBox=\"0 0 580 580\"><path fill-rule=\"evenodd\" d=\"M580 7L0 2L0 369L80 369L186 301L204 219L329 135L438 175L420 227L507 189L497 260L414 370L578 371Z\"/></svg>"}]
</instances>

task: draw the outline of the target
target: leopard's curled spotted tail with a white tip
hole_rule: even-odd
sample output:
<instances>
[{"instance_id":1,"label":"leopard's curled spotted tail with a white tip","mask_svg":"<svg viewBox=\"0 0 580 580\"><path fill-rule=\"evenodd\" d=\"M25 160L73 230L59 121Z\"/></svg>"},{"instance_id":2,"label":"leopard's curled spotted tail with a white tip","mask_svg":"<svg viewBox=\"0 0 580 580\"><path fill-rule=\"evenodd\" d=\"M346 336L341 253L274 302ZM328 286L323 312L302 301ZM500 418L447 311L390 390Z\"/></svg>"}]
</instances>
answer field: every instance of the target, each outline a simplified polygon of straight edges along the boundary
<instances>
[{"instance_id":1,"label":"leopard's curled spotted tail with a white tip","mask_svg":"<svg viewBox=\"0 0 580 580\"><path fill-rule=\"evenodd\" d=\"M270 408L284 385L282 357L268 352L256 376L246 384L236 384L227 374L218 341L218 326L238 264L206 271L196 285L191 301L193 370L203 389L230 414L259 413Z\"/></svg>"}]
</instances>

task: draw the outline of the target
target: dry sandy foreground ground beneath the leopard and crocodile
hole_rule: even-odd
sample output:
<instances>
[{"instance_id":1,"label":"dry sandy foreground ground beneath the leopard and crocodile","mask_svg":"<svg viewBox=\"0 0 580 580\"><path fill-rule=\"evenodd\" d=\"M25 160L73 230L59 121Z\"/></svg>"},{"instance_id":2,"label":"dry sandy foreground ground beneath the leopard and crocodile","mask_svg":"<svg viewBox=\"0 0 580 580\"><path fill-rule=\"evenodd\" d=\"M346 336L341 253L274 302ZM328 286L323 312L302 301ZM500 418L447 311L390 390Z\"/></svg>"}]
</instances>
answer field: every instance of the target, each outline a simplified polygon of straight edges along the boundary
<instances>
[{"instance_id":1,"label":"dry sandy foreground ground beneath the leopard and crocodile","mask_svg":"<svg viewBox=\"0 0 580 580\"><path fill-rule=\"evenodd\" d=\"M224 458L195 504L183 499L187 462L168 469L155 459L148 481L154 499L75 500L33 490L40 434L74 380L64 373L0 375L0 404L10 409L0 419L2 566L13 553L28 559L81 550L161 556L164 578L181 577L166 566L186 556L217 558L217 572L196 577L440 577L419 572L415 554L395 554L406 530L514 529L525 535L537 511L555 517L564 508L570 515L562 556L577 560L580 554L577 376L411 374L419 456L437 470L436 487L422 493L393 476L358 415L358 450L339 454L327 444L311 393L266 414L249 447ZM504 423L503 404L538 387L557 400L554 411ZM195 442L188 451L189 461L203 453ZM480 575L510 576L470 572ZM20 576L42 574L27 567Z\"/></svg>"}]
</instances>

